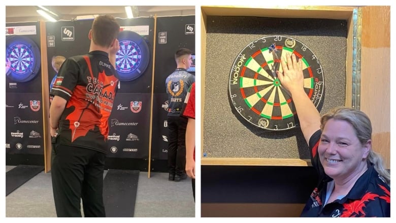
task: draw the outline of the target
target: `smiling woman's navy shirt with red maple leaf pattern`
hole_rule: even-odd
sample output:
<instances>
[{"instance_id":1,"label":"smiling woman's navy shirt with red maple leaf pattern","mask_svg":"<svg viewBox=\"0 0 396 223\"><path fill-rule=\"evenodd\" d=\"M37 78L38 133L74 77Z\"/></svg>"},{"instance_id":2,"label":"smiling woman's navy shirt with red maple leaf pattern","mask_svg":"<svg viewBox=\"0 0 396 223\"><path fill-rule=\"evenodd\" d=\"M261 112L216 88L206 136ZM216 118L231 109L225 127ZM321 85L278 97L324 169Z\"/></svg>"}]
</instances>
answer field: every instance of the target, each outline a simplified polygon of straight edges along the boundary
<instances>
[{"instance_id":1,"label":"smiling woman's navy shirt with red maple leaf pattern","mask_svg":"<svg viewBox=\"0 0 396 223\"><path fill-rule=\"evenodd\" d=\"M327 186L333 179L324 173L318 155L321 131L310 140L312 166L319 173L319 182L313 190L302 217L390 217L390 187L370 163L368 170L359 177L350 192L343 198L323 206Z\"/></svg>"}]
</instances>

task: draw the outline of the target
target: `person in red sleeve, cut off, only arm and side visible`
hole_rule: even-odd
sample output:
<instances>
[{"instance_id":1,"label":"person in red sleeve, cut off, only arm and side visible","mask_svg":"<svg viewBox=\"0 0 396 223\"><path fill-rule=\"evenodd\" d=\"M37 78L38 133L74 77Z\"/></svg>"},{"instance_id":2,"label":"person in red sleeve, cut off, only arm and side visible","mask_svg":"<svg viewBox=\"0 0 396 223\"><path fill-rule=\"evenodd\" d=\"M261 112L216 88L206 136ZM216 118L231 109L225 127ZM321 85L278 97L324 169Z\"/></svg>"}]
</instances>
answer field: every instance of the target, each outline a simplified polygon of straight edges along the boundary
<instances>
[{"instance_id":1,"label":"person in red sleeve, cut off, only arm and side visible","mask_svg":"<svg viewBox=\"0 0 396 223\"><path fill-rule=\"evenodd\" d=\"M188 118L186 128L186 174L191 177L192 195L195 201L195 82L188 90L183 116Z\"/></svg>"}]
</instances>

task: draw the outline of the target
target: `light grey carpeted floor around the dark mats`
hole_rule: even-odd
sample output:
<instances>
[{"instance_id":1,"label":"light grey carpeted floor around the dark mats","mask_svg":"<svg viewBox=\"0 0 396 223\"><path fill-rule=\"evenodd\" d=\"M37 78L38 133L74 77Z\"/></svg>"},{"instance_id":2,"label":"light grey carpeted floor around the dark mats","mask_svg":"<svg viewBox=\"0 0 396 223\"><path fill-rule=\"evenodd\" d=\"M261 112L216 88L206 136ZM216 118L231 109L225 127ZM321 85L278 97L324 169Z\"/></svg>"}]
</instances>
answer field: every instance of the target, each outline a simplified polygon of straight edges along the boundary
<instances>
[{"instance_id":1,"label":"light grey carpeted floor around the dark mats","mask_svg":"<svg viewBox=\"0 0 396 223\"><path fill-rule=\"evenodd\" d=\"M6 166L6 172L14 166ZM105 176L108 171L105 171ZM139 173L134 217L194 217L191 179L168 181L167 173ZM56 217L51 173L40 172L6 196L6 217Z\"/></svg>"}]
</instances>

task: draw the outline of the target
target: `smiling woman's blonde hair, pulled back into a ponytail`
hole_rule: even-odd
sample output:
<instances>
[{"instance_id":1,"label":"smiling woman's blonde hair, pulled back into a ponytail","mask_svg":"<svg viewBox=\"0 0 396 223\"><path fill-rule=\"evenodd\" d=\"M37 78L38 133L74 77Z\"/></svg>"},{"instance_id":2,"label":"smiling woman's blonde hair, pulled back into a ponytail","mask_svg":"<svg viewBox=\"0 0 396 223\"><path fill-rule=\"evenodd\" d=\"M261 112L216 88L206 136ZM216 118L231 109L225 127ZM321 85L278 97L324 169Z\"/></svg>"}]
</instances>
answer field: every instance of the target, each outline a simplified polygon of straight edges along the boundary
<instances>
[{"instance_id":1,"label":"smiling woman's blonde hair, pulled back into a ponytail","mask_svg":"<svg viewBox=\"0 0 396 223\"><path fill-rule=\"evenodd\" d=\"M326 122L332 118L349 122L361 144L365 144L371 139L373 131L371 121L364 112L347 107L334 108L320 118L320 130L323 131ZM374 152L373 148L371 148L367 160L374 164L375 170L390 185L390 174L384 167L381 155Z\"/></svg>"}]
</instances>

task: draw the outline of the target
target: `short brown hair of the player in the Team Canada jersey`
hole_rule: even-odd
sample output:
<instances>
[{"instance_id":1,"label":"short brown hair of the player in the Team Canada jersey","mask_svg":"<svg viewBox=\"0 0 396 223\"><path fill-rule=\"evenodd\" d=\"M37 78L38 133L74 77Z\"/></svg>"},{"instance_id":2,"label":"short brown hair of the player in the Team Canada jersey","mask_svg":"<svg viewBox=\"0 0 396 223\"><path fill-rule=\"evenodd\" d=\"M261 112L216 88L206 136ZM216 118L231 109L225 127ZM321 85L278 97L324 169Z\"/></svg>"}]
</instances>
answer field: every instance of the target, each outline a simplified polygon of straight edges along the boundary
<instances>
[{"instance_id":1,"label":"short brown hair of the player in the Team Canada jersey","mask_svg":"<svg viewBox=\"0 0 396 223\"><path fill-rule=\"evenodd\" d=\"M110 47L120 33L120 25L111 15L97 16L91 29L92 41L102 47Z\"/></svg>"}]
</instances>

